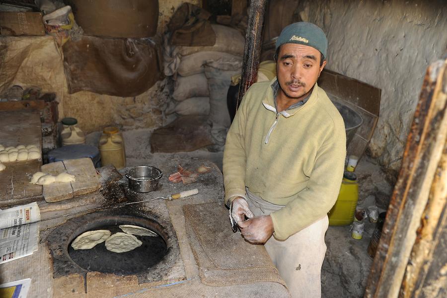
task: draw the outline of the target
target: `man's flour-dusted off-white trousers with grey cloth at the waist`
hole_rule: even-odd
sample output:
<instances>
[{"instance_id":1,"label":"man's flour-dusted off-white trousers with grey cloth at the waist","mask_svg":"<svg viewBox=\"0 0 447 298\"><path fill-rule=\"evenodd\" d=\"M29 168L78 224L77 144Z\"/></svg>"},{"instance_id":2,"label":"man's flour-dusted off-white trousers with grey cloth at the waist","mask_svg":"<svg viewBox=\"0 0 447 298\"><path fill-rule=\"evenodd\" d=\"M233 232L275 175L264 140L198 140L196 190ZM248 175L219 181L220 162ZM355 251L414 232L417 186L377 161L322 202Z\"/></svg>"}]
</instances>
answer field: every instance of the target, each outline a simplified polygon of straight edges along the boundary
<instances>
[{"instance_id":1,"label":"man's flour-dusted off-white trousers with grey cloth at the waist","mask_svg":"<svg viewBox=\"0 0 447 298\"><path fill-rule=\"evenodd\" d=\"M284 207L246 191L248 207L255 216L268 215ZM326 215L285 241L272 236L264 245L294 298L321 297L321 266L326 253L324 234L328 225Z\"/></svg>"}]
</instances>

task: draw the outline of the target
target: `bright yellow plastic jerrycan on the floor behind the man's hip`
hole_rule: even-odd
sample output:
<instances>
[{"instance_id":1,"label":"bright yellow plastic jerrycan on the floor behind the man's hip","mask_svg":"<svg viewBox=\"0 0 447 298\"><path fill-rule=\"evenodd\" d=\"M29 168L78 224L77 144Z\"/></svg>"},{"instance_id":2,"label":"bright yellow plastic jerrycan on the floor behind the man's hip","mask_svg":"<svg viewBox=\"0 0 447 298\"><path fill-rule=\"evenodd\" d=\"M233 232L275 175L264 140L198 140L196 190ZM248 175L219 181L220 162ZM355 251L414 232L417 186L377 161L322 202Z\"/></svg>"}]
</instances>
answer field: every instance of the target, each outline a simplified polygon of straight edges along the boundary
<instances>
[{"instance_id":1,"label":"bright yellow plastic jerrycan on the floor behind the man's hip","mask_svg":"<svg viewBox=\"0 0 447 298\"><path fill-rule=\"evenodd\" d=\"M354 221L359 185L356 174L345 171L337 201L328 213L329 225L348 225Z\"/></svg>"}]
</instances>

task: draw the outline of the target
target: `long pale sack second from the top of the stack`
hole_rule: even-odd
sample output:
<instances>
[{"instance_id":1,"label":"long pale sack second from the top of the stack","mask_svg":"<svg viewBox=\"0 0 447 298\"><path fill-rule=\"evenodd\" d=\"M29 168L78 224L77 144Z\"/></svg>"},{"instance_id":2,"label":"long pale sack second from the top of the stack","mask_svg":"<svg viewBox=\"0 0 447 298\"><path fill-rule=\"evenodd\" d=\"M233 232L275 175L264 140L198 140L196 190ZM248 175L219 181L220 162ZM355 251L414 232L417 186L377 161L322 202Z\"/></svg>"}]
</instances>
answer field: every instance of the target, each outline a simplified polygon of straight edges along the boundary
<instances>
[{"instance_id":1,"label":"long pale sack second from the top of the stack","mask_svg":"<svg viewBox=\"0 0 447 298\"><path fill-rule=\"evenodd\" d=\"M207 60L218 60L221 58L225 60L242 60L242 57L240 56L235 56L224 52L199 52L182 57L177 72L180 76L183 77L200 74L204 72L204 64L207 62Z\"/></svg>"}]
</instances>

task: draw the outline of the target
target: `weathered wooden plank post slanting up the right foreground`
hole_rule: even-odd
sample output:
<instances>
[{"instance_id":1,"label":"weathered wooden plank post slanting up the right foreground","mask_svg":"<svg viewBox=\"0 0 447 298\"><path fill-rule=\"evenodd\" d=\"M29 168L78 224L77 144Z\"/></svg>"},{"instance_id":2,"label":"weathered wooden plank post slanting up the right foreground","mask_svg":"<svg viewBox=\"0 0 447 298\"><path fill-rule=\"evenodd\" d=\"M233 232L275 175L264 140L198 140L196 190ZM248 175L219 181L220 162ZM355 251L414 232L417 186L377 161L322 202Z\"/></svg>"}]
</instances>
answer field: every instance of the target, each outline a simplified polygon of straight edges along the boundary
<instances>
[{"instance_id":1,"label":"weathered wooden plank post slanting up the right foreground","mask_svg":"<svg viewBox=\"0 0 447 298\"><path fill-rule=\"evenodd\" d=\"M446 294L446 69L427 69L365 298Z\"/></svg>"}]
</instances>

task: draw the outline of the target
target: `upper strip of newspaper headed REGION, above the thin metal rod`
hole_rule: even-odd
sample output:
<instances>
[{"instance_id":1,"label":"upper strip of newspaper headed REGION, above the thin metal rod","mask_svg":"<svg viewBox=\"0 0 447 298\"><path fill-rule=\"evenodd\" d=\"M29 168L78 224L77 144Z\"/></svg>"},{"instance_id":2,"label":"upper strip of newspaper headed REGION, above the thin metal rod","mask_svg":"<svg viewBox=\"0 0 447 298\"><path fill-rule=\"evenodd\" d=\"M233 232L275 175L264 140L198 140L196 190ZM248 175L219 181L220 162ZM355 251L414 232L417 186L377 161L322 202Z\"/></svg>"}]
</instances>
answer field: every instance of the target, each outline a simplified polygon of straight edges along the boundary
<instances>
[{"instance_id":1,"label":"upper strip of newspaper headed REGION, above the thin metal rod","mask_svg":"<svg viewBox=\"0 0 447 298\"><path fill-rule=\"evenodd\" d=\"M0 211L0 229L40 220L37 202Z\"/></svg>"}]
</instances>

